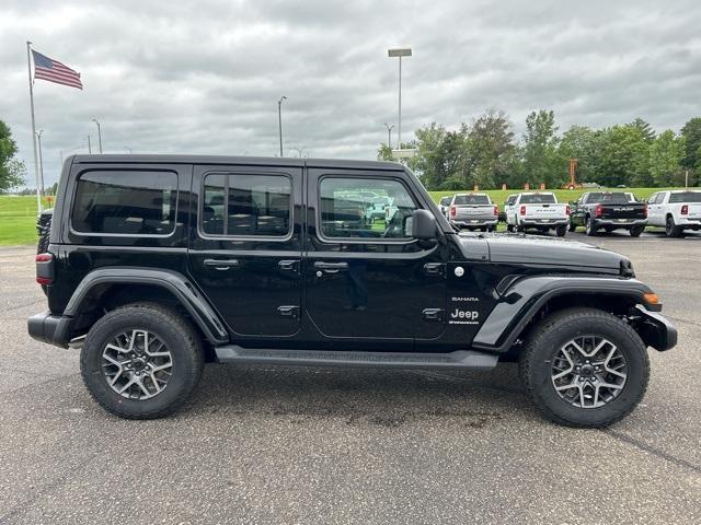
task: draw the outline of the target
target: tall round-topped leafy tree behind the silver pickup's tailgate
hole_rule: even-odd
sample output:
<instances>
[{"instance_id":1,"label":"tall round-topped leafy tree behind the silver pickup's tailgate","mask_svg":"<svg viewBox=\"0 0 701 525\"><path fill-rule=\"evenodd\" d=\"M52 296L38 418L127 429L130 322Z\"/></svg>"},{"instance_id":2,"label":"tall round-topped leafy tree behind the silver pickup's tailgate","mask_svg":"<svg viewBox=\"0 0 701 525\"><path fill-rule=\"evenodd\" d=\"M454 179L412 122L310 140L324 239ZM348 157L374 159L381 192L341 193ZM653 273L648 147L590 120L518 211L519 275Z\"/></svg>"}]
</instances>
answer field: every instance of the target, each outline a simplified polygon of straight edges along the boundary
<instances>
[{"instance_id":1,"label":"tall round-topped leafy tree behind the silver pickup's tailgate","mask_svg":"<svg viewBox=\"0 0 701 525\"><path fill-rule=\"evenodd\" d=\"M508 182L516 162L516 147L512 122L505 113L489 109L475 118L469 128L466 147L469 186L493 188Z\"/></svg>"}]
</instances>

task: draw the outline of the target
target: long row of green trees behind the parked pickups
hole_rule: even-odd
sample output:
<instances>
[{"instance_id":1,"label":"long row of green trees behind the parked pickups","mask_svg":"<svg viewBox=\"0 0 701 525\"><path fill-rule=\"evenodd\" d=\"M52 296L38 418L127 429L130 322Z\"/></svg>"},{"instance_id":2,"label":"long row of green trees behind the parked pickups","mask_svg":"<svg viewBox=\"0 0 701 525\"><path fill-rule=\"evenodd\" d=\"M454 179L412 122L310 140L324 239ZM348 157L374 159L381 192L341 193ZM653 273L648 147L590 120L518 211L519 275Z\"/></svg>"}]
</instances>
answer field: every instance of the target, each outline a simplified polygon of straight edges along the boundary
<instances>
[{"instance_id":1,"label":"long row of green trees behind the parked pickups","mask_svg":"<svg viewBox=\"0 0 701 525\"><path fill-rule=\"evenodd\" d=\"M636 118L602 129L572 126L560 133L552 110L532 112L520 139L508 115L489 109L471 122L449 130L433 122L418 129L402 148L415 148L409 166L428 189L522 188L525 184L566 187L570 159L577 160L576 182L606 187L682 186L701 182L701 117L691 118L679 132L657 133ZM381 143L379 160L392 160Z\"/></svg>"}]
</instances>

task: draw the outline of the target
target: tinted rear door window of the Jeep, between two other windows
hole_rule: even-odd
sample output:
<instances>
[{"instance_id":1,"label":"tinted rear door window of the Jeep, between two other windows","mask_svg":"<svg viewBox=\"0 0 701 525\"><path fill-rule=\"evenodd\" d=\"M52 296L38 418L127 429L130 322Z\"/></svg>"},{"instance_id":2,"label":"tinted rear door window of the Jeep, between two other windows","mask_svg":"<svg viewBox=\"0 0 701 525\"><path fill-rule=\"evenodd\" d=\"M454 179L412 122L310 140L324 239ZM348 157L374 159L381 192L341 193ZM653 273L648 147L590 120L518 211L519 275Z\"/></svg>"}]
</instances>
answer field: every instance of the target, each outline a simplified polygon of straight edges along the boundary
<instances>
[{"instance_id":1,"label":"tinted rear door window of the Jeep, between two other windows","mask_svg":"<svg viewBox=\"0 0 701 525\"><path fill-rule=\"evenodd\" d=\"M287 236L291 231L291 189L284 175L207 175L202 231L232 237Z\"/></svg>"}]
</instances>

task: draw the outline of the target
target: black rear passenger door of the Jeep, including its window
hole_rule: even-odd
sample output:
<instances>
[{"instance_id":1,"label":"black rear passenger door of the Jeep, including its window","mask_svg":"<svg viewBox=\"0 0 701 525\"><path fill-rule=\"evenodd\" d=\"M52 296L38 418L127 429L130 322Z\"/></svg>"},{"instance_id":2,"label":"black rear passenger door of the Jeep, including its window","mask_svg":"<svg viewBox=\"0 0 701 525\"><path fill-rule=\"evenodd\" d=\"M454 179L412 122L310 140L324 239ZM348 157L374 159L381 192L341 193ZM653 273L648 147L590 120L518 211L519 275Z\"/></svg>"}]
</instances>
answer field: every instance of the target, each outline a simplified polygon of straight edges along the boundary
<instances>
[{"instance_id":1,"label":"black rear passenger door of the Jeep, including its window","mask_svg":"<svg viewBox=\"0 0 701 525\"><path fill-rule=\"evenodd\" d=\"M301 167L195 166L188 269L235 336L299 330L301 182Z\"/></svg>"}]
</instances>

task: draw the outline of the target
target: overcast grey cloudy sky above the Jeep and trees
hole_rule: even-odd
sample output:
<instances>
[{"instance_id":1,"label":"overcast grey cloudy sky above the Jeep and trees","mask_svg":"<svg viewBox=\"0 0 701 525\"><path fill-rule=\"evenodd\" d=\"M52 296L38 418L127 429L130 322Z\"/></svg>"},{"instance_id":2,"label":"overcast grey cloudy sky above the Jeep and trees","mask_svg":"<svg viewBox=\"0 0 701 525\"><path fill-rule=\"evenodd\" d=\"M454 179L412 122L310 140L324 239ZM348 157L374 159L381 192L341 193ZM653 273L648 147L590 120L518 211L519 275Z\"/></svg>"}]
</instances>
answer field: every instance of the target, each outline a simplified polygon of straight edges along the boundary
<instances>
[{"instance_id":1,"label":"overcast grey cloudy sky above the Jeep and trees","mask_svg":"<svg viewBox=\"0 0 701 525\"><path fill-rule=\"evenodd\" d=\"M636 116L678 130L701 114L699 21L693 0L3 0L0 119L33 178L31 39L84 85L36 81L48 184L61 150L87 152L91 135L95 151L93 117L105 152L277 154L281 95L286 154L374 159L383 122L397 122L387 48L410 45L404 138L489 107L517 133L539 108L562 130Z\"/></svg>"}]
</instances>

